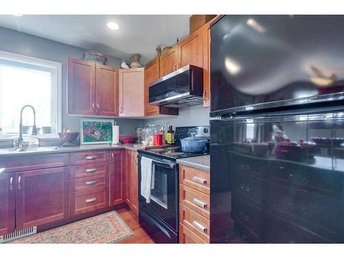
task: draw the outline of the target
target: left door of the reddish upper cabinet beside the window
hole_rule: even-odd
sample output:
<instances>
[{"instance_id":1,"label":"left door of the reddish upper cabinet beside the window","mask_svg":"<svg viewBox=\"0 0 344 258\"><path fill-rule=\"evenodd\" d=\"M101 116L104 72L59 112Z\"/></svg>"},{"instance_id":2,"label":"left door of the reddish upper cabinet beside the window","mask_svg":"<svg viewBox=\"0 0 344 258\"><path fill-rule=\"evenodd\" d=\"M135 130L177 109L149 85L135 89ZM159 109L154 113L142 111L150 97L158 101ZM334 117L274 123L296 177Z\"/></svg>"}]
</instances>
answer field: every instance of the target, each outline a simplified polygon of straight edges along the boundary
<instances>
[{"instance_id":1,"label":"left door of the reddish upper cabinet beside the window","mask_svg":"<svg viewBox=\"0 0 344 258\"><path fill-rule=\"evenodd\" d=\"M94 115L96 102L95 63L68 58L68 114Z\"/></svg>"}]
</instances>

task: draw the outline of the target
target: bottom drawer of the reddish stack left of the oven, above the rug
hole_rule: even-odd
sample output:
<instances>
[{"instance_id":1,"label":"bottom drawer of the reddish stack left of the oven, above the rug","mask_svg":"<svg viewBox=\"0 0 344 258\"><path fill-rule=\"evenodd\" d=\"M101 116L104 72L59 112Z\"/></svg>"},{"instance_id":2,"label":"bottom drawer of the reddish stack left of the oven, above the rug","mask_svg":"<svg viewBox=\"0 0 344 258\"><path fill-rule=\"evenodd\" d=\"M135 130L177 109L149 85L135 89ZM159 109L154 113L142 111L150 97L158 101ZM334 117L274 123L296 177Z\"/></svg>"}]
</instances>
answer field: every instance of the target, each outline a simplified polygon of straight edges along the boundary
<instances>
[{"instance_id":1,"label":"bottom drawer of the reddish stack left of the oven, above the rug","mask_svg":"<svg viewBox=\"0 0 344 258\"><path fill-rule=\"evenodd\" d=\"M71 215L96 211L109 206L109 188L98 187L85 191L69 193Z\"/></svg>"}]
</instances>

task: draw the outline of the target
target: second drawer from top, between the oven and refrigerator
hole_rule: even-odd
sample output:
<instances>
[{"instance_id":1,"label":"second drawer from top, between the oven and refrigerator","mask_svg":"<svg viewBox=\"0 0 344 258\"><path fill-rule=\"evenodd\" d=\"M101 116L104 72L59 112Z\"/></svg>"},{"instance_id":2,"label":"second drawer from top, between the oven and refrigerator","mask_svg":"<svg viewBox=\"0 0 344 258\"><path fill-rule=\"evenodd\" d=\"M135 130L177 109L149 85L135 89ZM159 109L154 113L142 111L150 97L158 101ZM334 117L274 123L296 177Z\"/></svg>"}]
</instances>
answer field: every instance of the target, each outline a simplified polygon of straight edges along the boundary
<instances>
[{"instance_id":1,"label":"second drawer from top, between the oven and refrigerator","mask_svg":"<svg viewBox=\"0 0 344 258\"><path fill-rule=\"evenodd\" d=\"M200 213L207 219L210 218L210 196L192 189L183 184L179 184L179 202L191 210Z\"/></svg>"}]
</instances>

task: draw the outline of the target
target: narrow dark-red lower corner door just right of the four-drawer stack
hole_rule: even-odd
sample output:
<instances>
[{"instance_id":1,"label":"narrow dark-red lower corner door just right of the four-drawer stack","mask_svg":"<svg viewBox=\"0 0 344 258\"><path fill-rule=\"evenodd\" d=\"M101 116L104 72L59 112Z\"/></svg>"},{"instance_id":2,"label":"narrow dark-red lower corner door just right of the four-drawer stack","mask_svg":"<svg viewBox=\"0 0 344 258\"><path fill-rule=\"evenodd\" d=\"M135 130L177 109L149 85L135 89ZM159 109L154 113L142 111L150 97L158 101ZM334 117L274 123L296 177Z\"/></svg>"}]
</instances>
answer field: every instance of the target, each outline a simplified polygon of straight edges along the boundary
<instances>
[{"instance_id":1,"label":"narrow dark-red lower corner door just right of the four-drawer stack","mask_svg":"<svg viewBox=\"0 0 344 258\"><path fill-rule=\"evenodd\" d=\"M111 151L111 169L110 169L110 205L121 204L124 202L123 197L123 169L126 167L124 165L125 157L124 151L116 150Z\"/></svg>"}]
</instances>

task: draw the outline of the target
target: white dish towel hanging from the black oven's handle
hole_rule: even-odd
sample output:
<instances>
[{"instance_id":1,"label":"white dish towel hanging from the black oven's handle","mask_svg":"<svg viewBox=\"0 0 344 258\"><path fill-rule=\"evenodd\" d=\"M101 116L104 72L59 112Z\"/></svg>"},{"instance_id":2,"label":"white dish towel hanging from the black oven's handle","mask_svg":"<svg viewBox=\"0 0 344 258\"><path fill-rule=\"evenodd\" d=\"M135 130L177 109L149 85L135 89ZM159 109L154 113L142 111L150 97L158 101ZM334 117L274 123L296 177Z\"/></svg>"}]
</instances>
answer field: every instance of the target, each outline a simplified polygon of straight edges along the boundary
<instances>
[{"instance_id":1,"label":"white dish towel hanging from the black oven's handle","mask_svg":"<svg viewBox=\"0 0 344 258\"><path fill-rule=\"evenodd\" d=\"M151 189L154 189L153 160L141 158L141 195L146 202L151 202Z\"/></svg>"}]
</instances>

